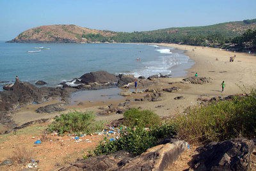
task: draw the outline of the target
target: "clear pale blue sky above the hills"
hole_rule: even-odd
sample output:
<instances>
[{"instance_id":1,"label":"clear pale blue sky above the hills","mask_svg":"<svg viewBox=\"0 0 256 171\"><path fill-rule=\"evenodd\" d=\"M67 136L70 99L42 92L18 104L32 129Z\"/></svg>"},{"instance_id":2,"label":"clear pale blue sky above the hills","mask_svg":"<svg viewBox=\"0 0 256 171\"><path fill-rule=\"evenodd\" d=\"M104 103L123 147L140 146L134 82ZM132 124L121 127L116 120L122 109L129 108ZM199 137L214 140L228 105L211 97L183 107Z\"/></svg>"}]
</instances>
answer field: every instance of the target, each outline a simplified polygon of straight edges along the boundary
<instances>
[{"instance_id":1,"label":"clear pale blue sky above the hills","mask_svg":"<svg viewBox=\"0 0 256 171\"><path fill-rule=\"evenodd\" d=\"M0 40L52 24L125 32L208 26L256 19L255 6L255 0L0 0Z\"/></svg>"}]
</instances>

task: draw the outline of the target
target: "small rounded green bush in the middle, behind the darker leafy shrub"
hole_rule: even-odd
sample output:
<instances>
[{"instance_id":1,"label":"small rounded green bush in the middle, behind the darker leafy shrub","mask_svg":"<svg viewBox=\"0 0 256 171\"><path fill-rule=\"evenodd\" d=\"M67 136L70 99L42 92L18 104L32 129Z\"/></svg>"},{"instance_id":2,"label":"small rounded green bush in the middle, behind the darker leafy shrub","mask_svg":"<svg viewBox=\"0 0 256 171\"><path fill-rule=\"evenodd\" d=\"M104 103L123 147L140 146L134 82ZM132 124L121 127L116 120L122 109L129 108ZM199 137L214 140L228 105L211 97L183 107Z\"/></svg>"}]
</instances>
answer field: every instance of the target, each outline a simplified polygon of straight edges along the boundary
<instances>
[{"instance_id":1,"label":"small rounded green bush in the middle, behind the darker leafy shrub","mask_svg":"<svg viewBox=\"0 0 256 171\"><path fill-rule=\"evenodd\" d=\"M150 110L131 108L124 112L124 124L131 127L141 126L150 128L154 125L161 124L161 119Z\"/></svg>"}]
</instances>

